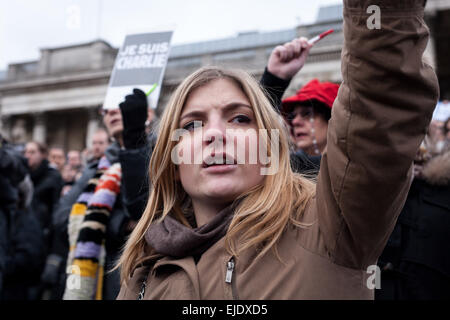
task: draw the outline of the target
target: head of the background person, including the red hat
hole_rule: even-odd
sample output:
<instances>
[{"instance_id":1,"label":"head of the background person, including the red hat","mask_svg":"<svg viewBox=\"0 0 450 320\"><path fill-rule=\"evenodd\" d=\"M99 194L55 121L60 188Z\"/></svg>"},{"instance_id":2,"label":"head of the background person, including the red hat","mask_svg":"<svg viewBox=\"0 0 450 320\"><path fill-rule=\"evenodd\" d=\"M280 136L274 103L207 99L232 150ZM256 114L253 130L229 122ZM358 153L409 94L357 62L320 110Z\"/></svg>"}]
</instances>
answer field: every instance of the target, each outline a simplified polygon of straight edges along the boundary
<instances>
[{"instance_id":1,"label":"head of the background person, including the red hat","mask_svg":"<svg viewBox=\"0 0 450 320\"><path fill-rule=\"evenodd\" d=\"M321 154L327 144L328 121L339 85L314 79L282 101L282 112L297 149Z\"/></svg>"}]
</instances>

